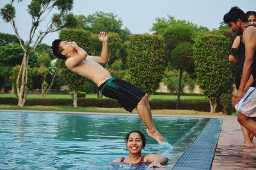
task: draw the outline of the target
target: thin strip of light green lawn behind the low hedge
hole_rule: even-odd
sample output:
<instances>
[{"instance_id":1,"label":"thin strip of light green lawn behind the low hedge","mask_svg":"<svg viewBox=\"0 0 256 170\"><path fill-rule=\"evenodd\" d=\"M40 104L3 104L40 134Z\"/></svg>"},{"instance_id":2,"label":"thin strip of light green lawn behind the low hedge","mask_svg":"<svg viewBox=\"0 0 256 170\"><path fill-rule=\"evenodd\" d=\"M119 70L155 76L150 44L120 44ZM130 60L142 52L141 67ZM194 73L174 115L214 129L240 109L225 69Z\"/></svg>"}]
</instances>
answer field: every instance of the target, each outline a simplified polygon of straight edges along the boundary
<instances>
[{"instance_id":1,"label":"thin strip of light green lawn behind the low hedge","mask_svg":"<svg viewBox=\"0 0 256 170\"><path fill-rule=\"evenodd\" d=\"M0 94L0 97L16 97L15 94ZM28 99L42 98L41 94L28 94ZM48 94L47 99L72 99L71 94ZM97 94L86 94L86 98L97 99ZM151 95L150 99L177 100L177 96L172 95ZM208 101L205 96L180 96L181 101Z\"/></svg>"}]
</instances>

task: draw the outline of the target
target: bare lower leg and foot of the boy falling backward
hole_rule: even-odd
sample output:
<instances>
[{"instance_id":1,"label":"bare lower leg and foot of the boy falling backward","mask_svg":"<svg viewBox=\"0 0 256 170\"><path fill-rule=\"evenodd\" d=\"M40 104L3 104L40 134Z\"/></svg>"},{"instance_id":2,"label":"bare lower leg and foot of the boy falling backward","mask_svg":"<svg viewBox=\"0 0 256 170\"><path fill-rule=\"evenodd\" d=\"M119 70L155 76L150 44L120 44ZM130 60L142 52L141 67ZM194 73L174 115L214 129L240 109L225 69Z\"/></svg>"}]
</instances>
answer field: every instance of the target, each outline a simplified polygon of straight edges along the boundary
<instances>
[{"instance_id":1,"label":"bare lower leg and foot of the boy falling backward","mask_svg":"<svg viewBox=\"0 0 256 170\"><path fill-rule=\"evenodd\" d=\"M137 111L141 120L143 120L145 125L147 125L148 136L156 139L157 141L164 142L163 136L156 130L156 127L153 123L147 94L145 94L145 96L142 97L140 102L138 103Z\"/></svg>"}]
</instances>

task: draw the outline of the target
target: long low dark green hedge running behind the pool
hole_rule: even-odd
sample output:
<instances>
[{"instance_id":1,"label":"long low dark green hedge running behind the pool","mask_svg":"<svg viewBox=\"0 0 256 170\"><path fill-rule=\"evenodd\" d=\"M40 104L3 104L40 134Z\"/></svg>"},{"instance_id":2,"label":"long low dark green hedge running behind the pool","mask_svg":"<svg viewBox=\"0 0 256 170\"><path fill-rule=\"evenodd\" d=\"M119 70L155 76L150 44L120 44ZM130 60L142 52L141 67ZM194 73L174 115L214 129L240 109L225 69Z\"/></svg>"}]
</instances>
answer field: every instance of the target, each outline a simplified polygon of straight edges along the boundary
<instances>
[{"instance_id":1,"label":"long low dark green hedge running behind the pool","mask_svg":"<svg viewBox=\"0 0 256 170\"><path fill-rule=\"evenodd\" d=\"M72 106L73 99L27 99L26 106ZM13 97L0 97L0 104L17 104L17 99ZM77 105L79 107L99 107L99 108L120 108L118 101L113 99L89 99L81 98L77 99ZM150 100L150 108L153 110L169 109L175 110L176 101L164 100L164 99L152 99ZM184 101L180 103L180 110L196 110L196 111L210 111L210 105L207 101ZM222 108L219 104L217 111L221 111Z\"/></svg>"}]
</instances>

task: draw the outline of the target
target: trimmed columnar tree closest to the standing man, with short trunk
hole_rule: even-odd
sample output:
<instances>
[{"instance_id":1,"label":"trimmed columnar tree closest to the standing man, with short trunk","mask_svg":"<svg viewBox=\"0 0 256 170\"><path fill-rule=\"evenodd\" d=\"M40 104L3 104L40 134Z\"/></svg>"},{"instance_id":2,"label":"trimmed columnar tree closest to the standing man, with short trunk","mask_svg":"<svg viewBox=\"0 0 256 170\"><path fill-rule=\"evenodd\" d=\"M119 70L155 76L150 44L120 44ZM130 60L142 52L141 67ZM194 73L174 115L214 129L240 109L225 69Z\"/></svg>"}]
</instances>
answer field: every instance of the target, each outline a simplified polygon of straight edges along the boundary
<instances>
[{"instance_id":1,"label":"trimmed columnar tree closest to the standing man, with short trunk","mask_svg":"<svg viewBox=\"0 0 256 170\"><path fill-rule=\"evenodd\" d=\"M197 82L209 99L211 113L216 111L218 97L233 90L229 43L222 34L207 32L199 35L193 46Z\"/></svg>"}]
</instances>

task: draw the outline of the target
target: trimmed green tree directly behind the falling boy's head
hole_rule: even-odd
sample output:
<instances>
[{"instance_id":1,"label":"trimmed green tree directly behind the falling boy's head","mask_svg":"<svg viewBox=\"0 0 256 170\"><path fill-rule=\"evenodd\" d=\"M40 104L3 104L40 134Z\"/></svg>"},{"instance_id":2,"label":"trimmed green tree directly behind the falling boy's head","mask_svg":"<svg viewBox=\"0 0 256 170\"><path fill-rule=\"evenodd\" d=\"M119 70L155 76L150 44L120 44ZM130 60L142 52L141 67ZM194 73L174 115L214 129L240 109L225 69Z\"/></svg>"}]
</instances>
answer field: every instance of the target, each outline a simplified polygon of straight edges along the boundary
<instances>
[{"instance_id":1,"label":"trimmed green tree directly behind the falling boy's head","mask_svg":"<svg viewBox=\"0 0 256 170\"><path fill-rule=\"evenodd\" d=\"M83 29L62 29L60 32L60 39L65 41L76 41L77 45L86 50L87 53L93 51L91 42L92 32L90 31L84 31ZM65 64L62 66L61 78L73 92L73 106L77 107L77 93L79 90L84 89L84 85L88 80L83 76L80 76L79 74L67 69Z\"/></svg>"}]
</instances>

